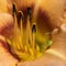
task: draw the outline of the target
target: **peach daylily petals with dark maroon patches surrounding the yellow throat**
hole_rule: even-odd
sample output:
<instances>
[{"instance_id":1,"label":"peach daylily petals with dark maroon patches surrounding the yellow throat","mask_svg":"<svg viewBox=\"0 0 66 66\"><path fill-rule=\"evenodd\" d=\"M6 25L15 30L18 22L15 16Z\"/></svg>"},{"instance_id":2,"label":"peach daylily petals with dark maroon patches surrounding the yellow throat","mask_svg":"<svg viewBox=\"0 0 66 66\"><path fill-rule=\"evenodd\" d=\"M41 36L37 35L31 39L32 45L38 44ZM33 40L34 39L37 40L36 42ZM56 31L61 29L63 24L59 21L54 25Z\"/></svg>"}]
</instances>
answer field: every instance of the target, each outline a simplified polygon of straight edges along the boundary
<instances>
[{"instance_id":1,"label":"peach daylily petals with dark maroon patches surrounding the yellow throat","mask_svg":"<svg viewBox=\"0 0 66 66\"><path fill-rule=\"evenodd\" d=\"M8 14L8 12L6 10L3 10L3 12L7 13L0 13L0 38L1 41L3 41L3 43L1 43L1 52L0 52L0 66L13 66L13 65L18 65L18 66L65 66L66 65L66 54L65 54L65 40L63 40L63 42L61 43L59 40L59 35L64 35L66 34L64 31L64 28L62 29L61 24L63 23L63 21L61 20L62 14L64 13L64 3L65 0L54 0L54 1L47 1L46 0L12 0L16 3L18 7L18 11L21 10L24 13L24 23L26 21L26 9L28 7L31 7L32 11L32 18L33 20L36 22L36 26L38 29L40 35L41 36L41 41L43 41L43 36L44 36L44 32L45 33L51 33L51 31L55 28L59 28L58 31L54 31L52 35L53 36L53 44L51 46L50 50L47 50L44 55L41 58L36 58L32 62L18 62L19 59L14 58L13 55L11 55L11 53L9 53L8 50L8 44L4 40L4 37L10 38L10 36L12 35L11 30L13 30L13 16L12 14ZM37 14L34 12L34 8L36 6L36 2L38 1L38 9ZM2 6L1 6L2 7ZM3 8L2 8L3 9ZM2 12L2 11L1 11ZM12 12L12 11L11 11ZM33 14L34 12L34 14ZM34 18L34 16L35 18ZM33 21L32 20L32 21ZM51 28L51 29L50 29ZM25 29L25 24L24 24L24 29ZM23 29L23 30L24 30ZM44 31L45 30L45 31ZM64 31L62 31L64 30ZM48 34L50 34L48 33ZM34 35L34 34L33 34ZM58 45L57 45L58 43ZM7 46L7 47L6 47Z\"/></svg>"}]
</instances>

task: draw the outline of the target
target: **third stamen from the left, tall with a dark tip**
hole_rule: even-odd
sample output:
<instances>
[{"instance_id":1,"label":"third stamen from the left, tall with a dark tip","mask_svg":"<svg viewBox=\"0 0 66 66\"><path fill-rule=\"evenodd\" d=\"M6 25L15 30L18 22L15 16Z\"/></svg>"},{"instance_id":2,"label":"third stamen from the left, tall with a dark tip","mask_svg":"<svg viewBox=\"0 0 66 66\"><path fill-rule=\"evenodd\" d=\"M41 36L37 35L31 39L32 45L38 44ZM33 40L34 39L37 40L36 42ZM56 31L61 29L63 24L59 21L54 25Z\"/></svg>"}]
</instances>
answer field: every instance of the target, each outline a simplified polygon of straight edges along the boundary
<instances>
[{"instance_id":1,"label":"third stamen from the left, tall with a dark tip","mask_svg":"<svg viewBox=\"0 0 66 66\"><path fill-rule=\"evenodd\" d=\"M31 18L31 9L28 8L28 23L26 23L26 52L29 52L29 44L32 43L32 34L31 34L31 24L30 24L30 18Z\"/></svg>"}]
</instances>

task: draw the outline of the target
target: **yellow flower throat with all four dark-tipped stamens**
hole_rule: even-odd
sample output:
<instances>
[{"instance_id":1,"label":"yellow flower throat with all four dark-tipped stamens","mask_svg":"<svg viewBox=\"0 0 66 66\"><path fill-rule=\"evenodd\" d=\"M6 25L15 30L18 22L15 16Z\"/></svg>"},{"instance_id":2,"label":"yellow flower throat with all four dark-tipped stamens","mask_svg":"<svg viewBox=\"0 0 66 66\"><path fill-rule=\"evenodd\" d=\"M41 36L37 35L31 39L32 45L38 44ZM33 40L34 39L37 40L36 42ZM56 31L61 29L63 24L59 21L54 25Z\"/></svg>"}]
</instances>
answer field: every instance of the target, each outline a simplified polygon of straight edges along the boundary
<instances>
[{"instance_id":1,"label":"yellow flower throat with all four dark-tipped stamens","mask_svg":"<svg viewBox=\"0 0 66 66\"><path fill-rule=\"evenodd\" d=\"M23 13L22 11L16 12L15 4L13 4L13 34L11 38L7 38L10 45L11 53L19 57L20 61L32 61L41 57L45 50L51 46L51 41L44 41L41 34L37 32L36 22L31 23L31 9L28 8L28 22L26 29L23 29ZM20 16L20 26L18 25L16 13ZM44 36L46 37L46 35ZM47 38L47 37L46 37ZM42 42L41 42L42 40Z\"/></svg>"}]
</instances>

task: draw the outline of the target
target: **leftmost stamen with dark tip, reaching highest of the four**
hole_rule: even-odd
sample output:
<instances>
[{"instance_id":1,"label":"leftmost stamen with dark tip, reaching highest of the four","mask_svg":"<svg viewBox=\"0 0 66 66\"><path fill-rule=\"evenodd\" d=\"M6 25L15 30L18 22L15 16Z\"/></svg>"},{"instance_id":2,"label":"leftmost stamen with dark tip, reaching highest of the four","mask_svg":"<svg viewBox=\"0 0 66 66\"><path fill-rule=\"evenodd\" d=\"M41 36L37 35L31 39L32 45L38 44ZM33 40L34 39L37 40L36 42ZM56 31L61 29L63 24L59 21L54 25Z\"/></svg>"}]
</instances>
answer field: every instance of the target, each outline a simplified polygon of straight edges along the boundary
<instances>
[{"instance_id":1,"label":"leftmost stamen with dark tip, reaching highest of the four","mask_svg":"<svg viewBox=\"0 0 66 66\"><path fill-rule=\"evenodd\" d=\"M16 19L16 8L15 8L15 4L13 4L13 21L14 21L14 28L13 28L13 46L16 47L18 50L20 50L20 40L19 40L19 36L20 36L20 30L19 30L19 26L18 26L18 19Z\"/></svg>"}]
</instances>

